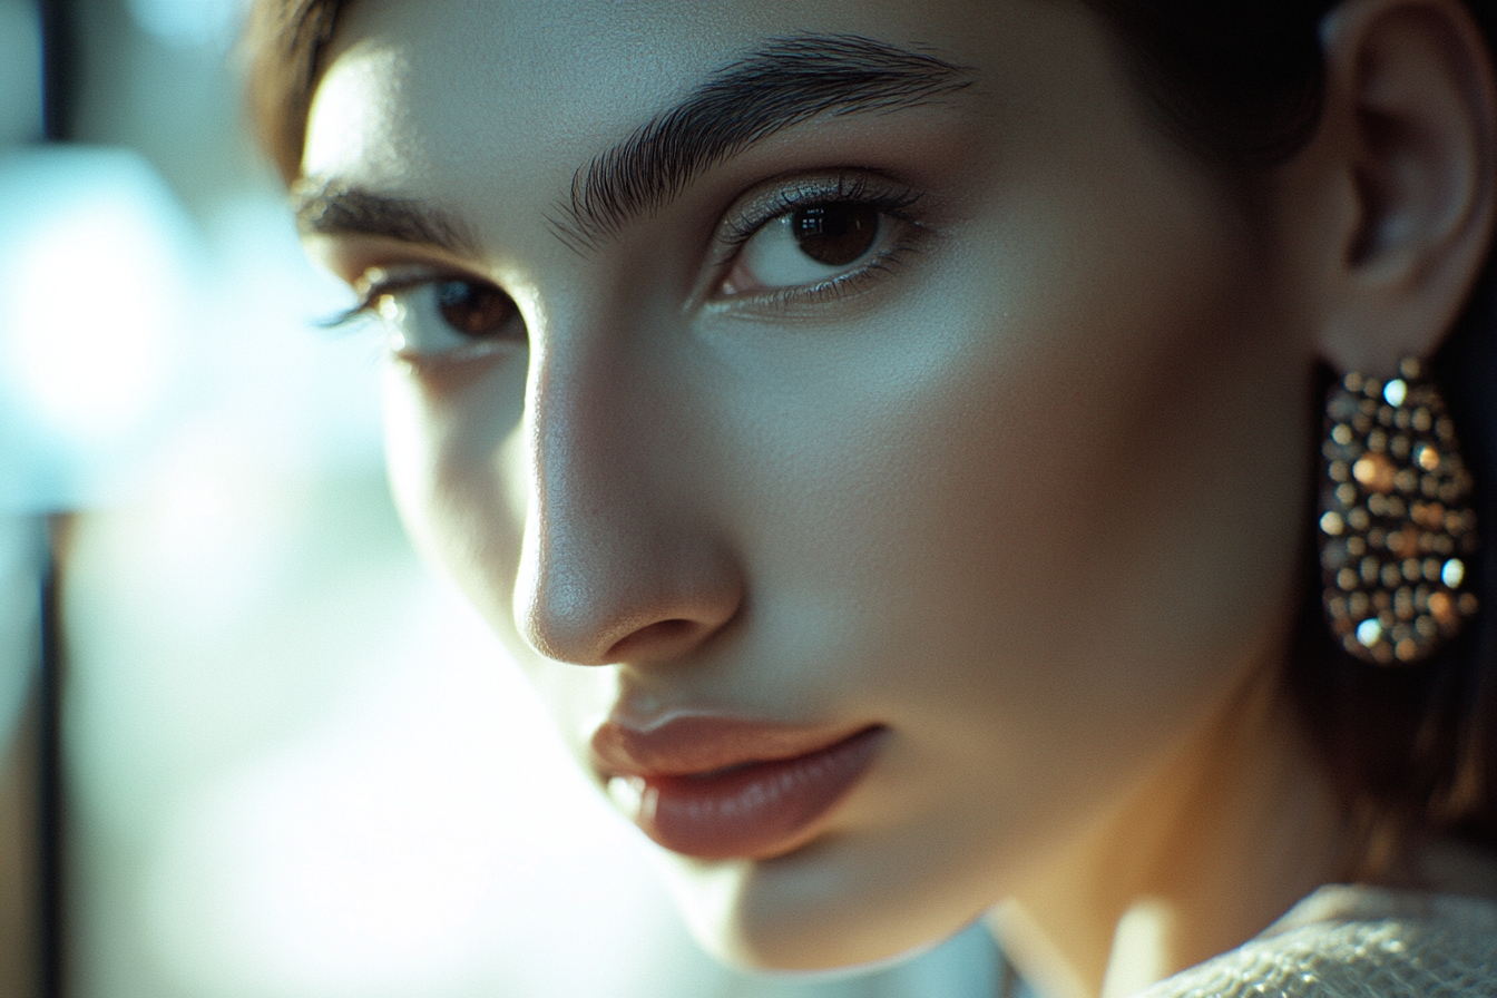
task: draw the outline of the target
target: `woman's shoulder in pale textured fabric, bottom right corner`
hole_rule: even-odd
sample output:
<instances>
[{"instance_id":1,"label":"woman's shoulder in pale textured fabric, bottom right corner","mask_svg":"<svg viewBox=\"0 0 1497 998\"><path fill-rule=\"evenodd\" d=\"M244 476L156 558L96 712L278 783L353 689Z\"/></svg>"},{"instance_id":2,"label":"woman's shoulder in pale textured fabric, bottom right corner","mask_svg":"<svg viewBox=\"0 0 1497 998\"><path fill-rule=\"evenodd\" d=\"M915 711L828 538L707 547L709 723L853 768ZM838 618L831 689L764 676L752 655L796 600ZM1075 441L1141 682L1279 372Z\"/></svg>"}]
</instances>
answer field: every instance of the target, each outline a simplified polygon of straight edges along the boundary
<instances>
[{"instance_id":1,"label":"woman's shoulder in pale textured fabric, bottom right corner","mask_svg":"<svg viewBox=\"0 0 1497 998\"><path fill-rule=\"evenodd\" d=\"M1331 886L1139 998L1497 998L1497 902Z\"/></svg>"}]
</instances>

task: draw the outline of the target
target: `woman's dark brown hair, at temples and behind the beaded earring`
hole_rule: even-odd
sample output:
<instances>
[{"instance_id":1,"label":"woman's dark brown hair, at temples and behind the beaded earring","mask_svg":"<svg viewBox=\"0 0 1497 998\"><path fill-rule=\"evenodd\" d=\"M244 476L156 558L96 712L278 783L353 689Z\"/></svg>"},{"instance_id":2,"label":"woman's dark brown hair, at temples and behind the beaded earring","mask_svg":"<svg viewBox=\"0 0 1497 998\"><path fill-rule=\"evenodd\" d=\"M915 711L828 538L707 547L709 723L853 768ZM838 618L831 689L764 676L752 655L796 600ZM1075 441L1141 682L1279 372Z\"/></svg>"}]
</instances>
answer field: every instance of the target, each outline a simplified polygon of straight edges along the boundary
<instances>
[{"instance_id":1,"label":"woman's dark brown hair, at temples and behind the beaded earring","mask_svg":"<svg viewBox=\"0 0 1497 998\"><path fill-rule=\"evenodd\" d=\"M249 34L250 102L286 183L299 172L317 60L347 0L265 0ZM1082 0L1112 28L1159 127L1208 165L1244 178L1292 157L1319 123L1320 24L1335 0ZM1497 3L1467 0L1497 49ZM1497 542L1497 274L1487 268L1430 359L1463 438L1479 522ZM1320 425L1320 371L1310 425ZM1316 447L1307 441L1307 459ZM1311 479L1313 480L1313 479ZM1452 832L1497 847L1497 613L1413 667L1368 666L1329 636L1305 497L1304 606L1284 681L1359 823L1376 874L1410 835ZM1472 566L1497 603L1497 543Z\"/></svg>"}]
</instances>

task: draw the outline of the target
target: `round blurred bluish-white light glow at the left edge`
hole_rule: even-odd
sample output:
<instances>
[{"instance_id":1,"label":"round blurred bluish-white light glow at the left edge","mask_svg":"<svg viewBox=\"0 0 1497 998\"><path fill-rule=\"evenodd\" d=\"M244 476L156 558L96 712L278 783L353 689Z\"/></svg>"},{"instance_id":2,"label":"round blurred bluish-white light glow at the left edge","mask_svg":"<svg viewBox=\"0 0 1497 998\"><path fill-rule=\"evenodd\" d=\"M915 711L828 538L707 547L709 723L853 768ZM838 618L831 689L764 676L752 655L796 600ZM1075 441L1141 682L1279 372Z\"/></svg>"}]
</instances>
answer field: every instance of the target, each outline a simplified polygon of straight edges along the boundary
<instances>
[{"instance_id":1,"label":"round blurred bluish-white light glow at the left edge","mask_svg":"<svg viewBox=\"0 0 1497 998\"><path fill-rule=\"evenodd\" d=\"M87 501L162 414L192 226L133 153L0 157L0 509Z\"/></svg>"}]
</instances>

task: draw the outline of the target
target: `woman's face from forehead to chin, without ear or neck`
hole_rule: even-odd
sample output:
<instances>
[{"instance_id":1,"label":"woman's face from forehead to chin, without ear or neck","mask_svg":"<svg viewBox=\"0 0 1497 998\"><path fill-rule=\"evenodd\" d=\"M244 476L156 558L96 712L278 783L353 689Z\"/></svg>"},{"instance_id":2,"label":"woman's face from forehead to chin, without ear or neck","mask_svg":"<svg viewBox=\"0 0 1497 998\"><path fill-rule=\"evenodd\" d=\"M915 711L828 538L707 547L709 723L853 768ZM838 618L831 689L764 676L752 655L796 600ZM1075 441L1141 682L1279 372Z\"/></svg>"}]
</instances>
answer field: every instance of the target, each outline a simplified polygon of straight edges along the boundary
<instances>
[{"instance_id":1,"label":"woman's face from forehead to chin, without ear or neck","mask_svg":"<svg viewBox=\"0 0 1497 998\"><path fill-rule=\"evenodd\" d=\"M359 0L329 57L404 515L708 946L957 929L1283 642L1307 337L1087 7Z\"/></svg>"}]
</instances>

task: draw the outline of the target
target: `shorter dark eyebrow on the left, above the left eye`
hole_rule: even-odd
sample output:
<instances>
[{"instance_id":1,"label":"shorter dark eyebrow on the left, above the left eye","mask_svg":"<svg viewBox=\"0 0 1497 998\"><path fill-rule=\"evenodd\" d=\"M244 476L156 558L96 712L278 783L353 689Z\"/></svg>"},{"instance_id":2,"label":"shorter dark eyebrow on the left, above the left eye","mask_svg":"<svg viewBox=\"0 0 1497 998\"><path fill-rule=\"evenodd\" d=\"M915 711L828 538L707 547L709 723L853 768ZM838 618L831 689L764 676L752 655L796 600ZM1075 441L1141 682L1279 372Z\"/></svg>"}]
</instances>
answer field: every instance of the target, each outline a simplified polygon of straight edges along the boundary
<instances>
[{"instance_id":1,"label":"shorter dark eyebrow on the left, above the left eye","mask_svg":"<svg viewBox=\"0 0 1497 998\"><path fill-rule=\"evenodd\" d=\"M296 230L305 235L376 235L478 256L478 242L457 215L415 198L380 195L338 181L304 180L292 189Z\"/></svg>"}]
</instances>

